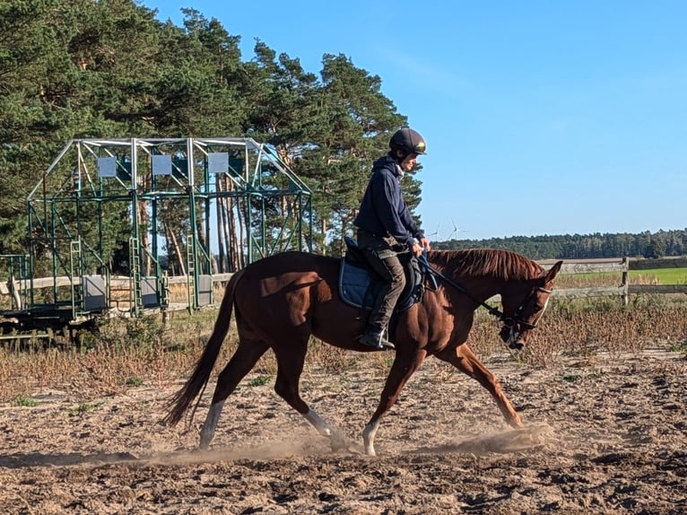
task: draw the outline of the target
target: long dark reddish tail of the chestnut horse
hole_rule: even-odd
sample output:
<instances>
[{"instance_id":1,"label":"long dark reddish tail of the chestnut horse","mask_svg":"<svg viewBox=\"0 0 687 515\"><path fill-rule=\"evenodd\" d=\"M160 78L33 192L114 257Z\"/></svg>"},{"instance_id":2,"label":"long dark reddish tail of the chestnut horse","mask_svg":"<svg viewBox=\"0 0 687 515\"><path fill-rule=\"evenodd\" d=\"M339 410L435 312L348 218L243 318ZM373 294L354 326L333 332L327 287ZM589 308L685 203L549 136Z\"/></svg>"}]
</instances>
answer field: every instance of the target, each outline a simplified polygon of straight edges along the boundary
<instances>
[{"instance_id":1,"label":"long dark reddish tail of the chestnut horse","mask_svg":"<svg viewBox=\"0 0 687 515\"><path fill-rule=\"evenodd\" d=\"M234 307L234 300L236 296L236 287L239 284L243 270L239 270L234 275L231 275L229 284L224 291L224 298L220 304L220 311L217 313L217 319L214 322L213 334L205 345L203 354L196 362L196 368L188 378L186 384L178 390L178 392L170 399L168 407L170 413L162 419L162 423L167 425L177 424L186 413L188 406L201 393L207 381L210 380L210 374L213 371L214 362L217 361L217 356L220 354L224 338L229 332L231 322L231 310ZM195 411L195 410L194 410Z\"/></svg>"}]
</instances>

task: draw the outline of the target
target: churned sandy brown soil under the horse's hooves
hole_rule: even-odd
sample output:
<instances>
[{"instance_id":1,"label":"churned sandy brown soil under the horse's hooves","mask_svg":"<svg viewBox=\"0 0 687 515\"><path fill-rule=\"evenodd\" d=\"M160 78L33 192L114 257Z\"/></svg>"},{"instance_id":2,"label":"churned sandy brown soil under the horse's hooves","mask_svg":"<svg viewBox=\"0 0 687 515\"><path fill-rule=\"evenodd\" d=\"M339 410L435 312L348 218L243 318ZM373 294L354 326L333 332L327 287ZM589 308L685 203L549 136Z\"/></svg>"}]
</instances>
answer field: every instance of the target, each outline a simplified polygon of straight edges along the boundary
<instances>
[{"instance_id":1,"label":"churned sandy brown soil under the horse's hooves","mask_svg":"<svg viewBox=\"0 0 687 515\"><path fill-rule=\"evenodd\" d=\"M39 406L0 406L0 513L687 512L679 355L487 364L526 429L510 430L474 380L430 359L383 421L377 458L332 452L250 376L205 452L195 448L206 402L190 432L158 423L178 385L87 405L42 391ZM381 382L310 373L301 388L360 449Z\"/></svg>"}]
</instances>

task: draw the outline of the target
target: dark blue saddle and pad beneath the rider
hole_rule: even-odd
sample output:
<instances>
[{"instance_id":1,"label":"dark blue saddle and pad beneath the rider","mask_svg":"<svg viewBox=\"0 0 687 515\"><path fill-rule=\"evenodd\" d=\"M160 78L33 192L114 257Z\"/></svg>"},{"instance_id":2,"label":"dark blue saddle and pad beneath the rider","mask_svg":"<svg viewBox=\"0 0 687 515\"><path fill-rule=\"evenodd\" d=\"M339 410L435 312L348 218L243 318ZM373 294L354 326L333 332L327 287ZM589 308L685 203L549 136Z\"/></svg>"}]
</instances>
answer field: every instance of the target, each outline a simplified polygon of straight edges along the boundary
<instances>
[{"instance_id":1,"label":"dark blue saddle and pad beneath the rider","mask_svg":"<svg viewBox=\"0 0 687 515\"><path fill-rule=\"evenodd\" d=\"M345 237L346 253L341 258L339 273L339 295L349 306L372 310L378 292L384 285L383 280L374 272L367 262L358 242ZM424 273L420 261L411 252L398 255L404 266L405 288L396 303L396 313L409 310L413 304L422 301L424 292Z\"/></svg>"}]
</instances>

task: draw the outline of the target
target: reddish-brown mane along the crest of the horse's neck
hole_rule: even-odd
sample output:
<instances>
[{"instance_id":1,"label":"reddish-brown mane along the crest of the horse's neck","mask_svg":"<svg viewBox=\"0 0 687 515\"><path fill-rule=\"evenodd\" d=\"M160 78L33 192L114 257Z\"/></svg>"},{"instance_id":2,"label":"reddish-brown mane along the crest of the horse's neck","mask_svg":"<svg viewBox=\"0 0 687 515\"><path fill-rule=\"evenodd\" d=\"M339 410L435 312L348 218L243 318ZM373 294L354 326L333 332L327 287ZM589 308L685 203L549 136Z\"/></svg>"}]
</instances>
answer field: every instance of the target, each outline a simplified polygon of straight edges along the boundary
<instances>
[{"instance_id":1,"label":"reddish-brown mane along the crest of the horse's neck","mask_svg":"<svg viewBox=\"0 0 687 515\"><path fill-rule=\"evenodd\" d=\"M432 250L430 264L450 275L488 276L503 281L535 279L543 268L516 252L501 249Z\"/></svg>"}]
</instances>

